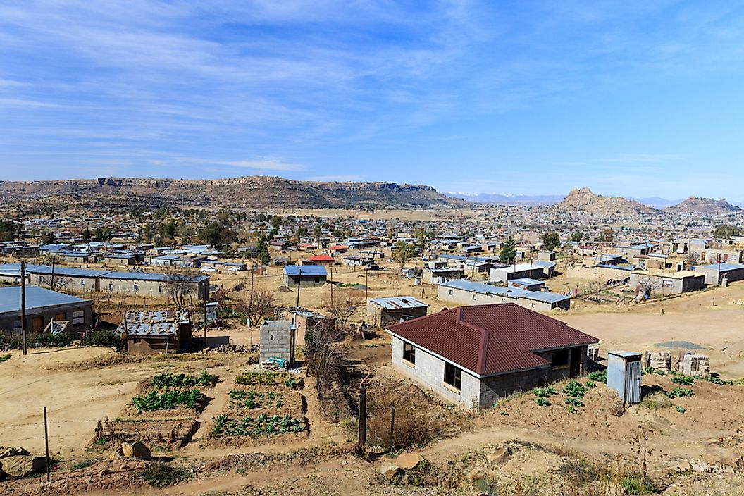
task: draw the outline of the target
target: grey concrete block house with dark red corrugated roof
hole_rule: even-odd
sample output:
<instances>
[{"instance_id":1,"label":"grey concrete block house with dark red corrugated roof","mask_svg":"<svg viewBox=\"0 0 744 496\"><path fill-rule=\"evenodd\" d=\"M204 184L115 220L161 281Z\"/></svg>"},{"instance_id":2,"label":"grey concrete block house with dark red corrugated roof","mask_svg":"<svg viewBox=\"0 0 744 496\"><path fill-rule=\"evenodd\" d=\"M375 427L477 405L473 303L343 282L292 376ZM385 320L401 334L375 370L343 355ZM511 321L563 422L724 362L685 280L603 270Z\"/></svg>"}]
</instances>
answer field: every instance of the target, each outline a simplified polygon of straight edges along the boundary
<instances>
[{"instance_id":1,"label":"grey concrete block house with dark red corrugated roof","mask_svg":"<svg viewBox=\"0 0 744 496\"><path fill-rule=\"evenodd\" d=\"M469 410L582 376L587 346L598 342L515 303L461 306L385 330L400 373Z\"/></svg>"}]
</instances>

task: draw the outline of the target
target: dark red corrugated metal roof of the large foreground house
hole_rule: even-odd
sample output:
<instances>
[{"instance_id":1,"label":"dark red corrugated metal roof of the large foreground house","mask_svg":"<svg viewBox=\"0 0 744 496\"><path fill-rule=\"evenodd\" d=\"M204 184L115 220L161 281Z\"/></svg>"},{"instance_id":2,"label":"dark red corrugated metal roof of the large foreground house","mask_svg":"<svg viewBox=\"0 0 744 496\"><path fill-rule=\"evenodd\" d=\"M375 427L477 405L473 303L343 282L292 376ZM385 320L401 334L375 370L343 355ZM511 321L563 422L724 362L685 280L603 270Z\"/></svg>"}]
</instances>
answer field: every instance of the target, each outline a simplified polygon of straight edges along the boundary
<instances>
[{"instance_id":1,"label":"dark red corrugated metal roof of the large foreground house","mask_svg":"<svg viewBox=\"0 0 744 496\"><path fill-rule=\"evenodd\" d=\"M550 362L534 351L597 342L515 303L463 306L397 323L388 331L478 376L548 367Z\"/></svg>"}]
</instances>

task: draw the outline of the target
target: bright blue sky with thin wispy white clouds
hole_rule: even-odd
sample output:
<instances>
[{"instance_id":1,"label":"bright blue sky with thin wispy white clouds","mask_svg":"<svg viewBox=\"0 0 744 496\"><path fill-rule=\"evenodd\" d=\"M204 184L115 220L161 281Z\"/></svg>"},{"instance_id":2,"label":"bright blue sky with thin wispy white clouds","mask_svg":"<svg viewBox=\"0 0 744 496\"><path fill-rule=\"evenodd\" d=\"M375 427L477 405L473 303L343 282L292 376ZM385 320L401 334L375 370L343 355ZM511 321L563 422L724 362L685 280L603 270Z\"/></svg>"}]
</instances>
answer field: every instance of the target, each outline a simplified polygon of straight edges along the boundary
<instances>
[{"instance_id":1,"label":"bright blue sky with thin wispy white clouds","mask_svg":"<svg viewBox=\"0 0 744 496\"><path fill-rule=\"evenodd\" d=\"M0 1L0 179L744 200L742 1Z\"/></svg>"}]
</instances>

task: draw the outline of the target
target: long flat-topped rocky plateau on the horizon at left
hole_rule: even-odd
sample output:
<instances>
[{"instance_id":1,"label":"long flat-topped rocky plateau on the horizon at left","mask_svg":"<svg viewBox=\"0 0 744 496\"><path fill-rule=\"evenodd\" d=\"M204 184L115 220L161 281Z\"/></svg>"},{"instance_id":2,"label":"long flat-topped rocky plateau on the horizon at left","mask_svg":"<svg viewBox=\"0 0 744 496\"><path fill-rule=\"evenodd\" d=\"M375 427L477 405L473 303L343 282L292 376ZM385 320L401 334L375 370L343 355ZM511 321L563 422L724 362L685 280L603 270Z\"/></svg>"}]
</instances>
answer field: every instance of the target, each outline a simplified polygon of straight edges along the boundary
<instances>
[{"instance_id":1,"label":"long flat-topped rocky plateau on the horizon at left","mask_svg":"<svg viewBox=\"0 0 744 496\"><path fill-rule=\"evenodd\" d=\"M132 206L249 208L405 208L462 203L420 184L295 181L269 176L214 180L98 178L0 182L0 201L4 203L39 199Z\"/></svg>"}]
</instances>

